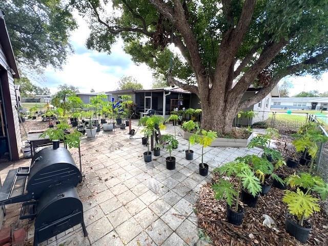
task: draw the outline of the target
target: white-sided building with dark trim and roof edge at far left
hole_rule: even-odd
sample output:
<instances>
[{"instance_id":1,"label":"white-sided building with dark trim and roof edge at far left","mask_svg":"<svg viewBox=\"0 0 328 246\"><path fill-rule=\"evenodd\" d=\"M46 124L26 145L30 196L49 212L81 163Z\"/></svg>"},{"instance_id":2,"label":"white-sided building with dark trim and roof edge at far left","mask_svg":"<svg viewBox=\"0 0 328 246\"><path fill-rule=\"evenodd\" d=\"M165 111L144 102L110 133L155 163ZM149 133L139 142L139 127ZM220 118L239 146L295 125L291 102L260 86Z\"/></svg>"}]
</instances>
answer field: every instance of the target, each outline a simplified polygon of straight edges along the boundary
<instances>
[{"instance_id":1,"label":"white-sided building with dark trim and roof edge at far left","mask_svg":"<svg viewBox=\"0 0 328 246\"><path fill-rule=\"evenodd\" d=\"M19 73L4 13L0 10L0 155L9 153L11 160L19 158L22 146L17 112L20 95L14 78L19 78Z\"/></svg>"}]
</instances>

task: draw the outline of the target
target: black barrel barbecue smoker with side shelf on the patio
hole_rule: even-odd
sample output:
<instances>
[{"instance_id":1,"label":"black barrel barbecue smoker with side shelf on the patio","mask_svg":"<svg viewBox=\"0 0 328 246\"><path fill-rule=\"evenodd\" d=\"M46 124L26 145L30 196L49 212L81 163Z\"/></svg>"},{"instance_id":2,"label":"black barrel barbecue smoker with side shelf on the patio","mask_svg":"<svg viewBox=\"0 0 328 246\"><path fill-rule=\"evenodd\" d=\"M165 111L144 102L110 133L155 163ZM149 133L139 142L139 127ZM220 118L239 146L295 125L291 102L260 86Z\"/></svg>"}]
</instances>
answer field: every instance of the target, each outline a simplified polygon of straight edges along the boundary
<instances>
[{"instance_id":1,"label":"black barrel barbecue smoker with side shelf on the patio","mask_svg":"<svg viewBox=\"0 0 328 246\"><path fill-rule=\"evenodd\" d=\"M76 191L81 178L70 152L54 142L33 156L30 167L8 172L0 205L23 202L19 218L35 219L34 246L79 223L87 236Z\"/></svg>"}]
</instances>

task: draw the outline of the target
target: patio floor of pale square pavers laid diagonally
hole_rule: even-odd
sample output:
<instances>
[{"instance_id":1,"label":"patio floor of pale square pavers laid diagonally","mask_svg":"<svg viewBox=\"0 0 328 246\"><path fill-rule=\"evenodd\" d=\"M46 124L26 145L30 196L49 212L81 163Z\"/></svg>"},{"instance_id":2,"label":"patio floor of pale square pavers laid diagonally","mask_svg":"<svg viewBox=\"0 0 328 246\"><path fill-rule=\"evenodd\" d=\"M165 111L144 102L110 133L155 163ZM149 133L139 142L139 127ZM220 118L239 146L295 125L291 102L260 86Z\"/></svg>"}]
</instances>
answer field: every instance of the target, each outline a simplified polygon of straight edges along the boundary
<instances>
[{"instance_id":1,"label":"patio floor of pale square pavers laid diagonally","mask_svg":"<svg viewBox=\"0 0 328 246\"><path fill-rule=\"evenodd\" d=\"M137 121L133 122L133 129ZM177 127L178 129L178 127ZM80 226L61 233L40 245L210 245L198 238L197 219L193 204L199 188L208 182L200 176L198 165L201 147L192 146L194 160L185 159L188 141L177 136L179 147L172 155L176 157L176 169L167 170L166 151L144 162L143 153L147 147L141 145L140 129L130 139L128 130L101 131L96 139L83 139L84 182L78 186L78 193L84 206L84 218L88 237L83 237ZM165 133L174 132L172 124ZM222 163L245 154L259 154L260 149L211 148L205 149L204 162L210 170ZM71 153L78 163L77 151ZM29 165L22 160L17 165ZM8 166L0 172L4 180ZM15 222L20 204L7 206L5 224ZM20 223L20 222L18 222ZM33 239L33 222L24 221L28 239Z\"/></svg>"}]
</instances>

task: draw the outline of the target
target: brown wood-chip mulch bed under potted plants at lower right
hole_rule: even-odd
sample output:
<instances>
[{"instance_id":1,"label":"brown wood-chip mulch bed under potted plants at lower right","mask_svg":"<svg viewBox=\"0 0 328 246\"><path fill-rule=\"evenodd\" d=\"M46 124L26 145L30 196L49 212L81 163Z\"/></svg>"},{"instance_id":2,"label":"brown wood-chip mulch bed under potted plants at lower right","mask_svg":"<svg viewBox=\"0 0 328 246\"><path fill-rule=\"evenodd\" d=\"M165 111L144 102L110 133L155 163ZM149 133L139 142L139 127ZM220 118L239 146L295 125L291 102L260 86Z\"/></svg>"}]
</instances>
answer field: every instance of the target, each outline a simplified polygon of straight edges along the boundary
<instances>
[{"instance_id":1,"label":"brown wood-chip mulch bed under potted plants at lower right","mask_svg":"<svg viewBox=\"0 0 328 246\"><path fill-rule=\"evenodd\" d=\"M298 171L305 171L300 167ZM281 173L292 174L293 169L284 168ZM212 183L218 179L215 174ZM308 221L312 230L308 242L303 244L285 231L286 205L282 202L284 191L272 187L268 195L258 199L256 208L244 206L245 214L241 226L228 223L226 218L226 202L214 198L212 183L203 186L199 191L196 203L198 226L212 239L214 245L328 245L328 217L321 211L313 214ZM269 215L276 223L279 232L262 225L263 214Z\"/></svg>"}]
</instances>

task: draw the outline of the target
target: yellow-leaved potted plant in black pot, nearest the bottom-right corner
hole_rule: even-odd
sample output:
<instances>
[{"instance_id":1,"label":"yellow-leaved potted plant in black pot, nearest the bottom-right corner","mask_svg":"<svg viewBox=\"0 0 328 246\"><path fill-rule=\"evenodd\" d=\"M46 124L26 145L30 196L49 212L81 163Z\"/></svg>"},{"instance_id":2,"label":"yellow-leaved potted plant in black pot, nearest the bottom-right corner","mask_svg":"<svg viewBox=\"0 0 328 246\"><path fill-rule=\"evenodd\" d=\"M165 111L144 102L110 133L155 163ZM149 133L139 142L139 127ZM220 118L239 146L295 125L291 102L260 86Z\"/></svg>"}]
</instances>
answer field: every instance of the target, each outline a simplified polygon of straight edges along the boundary
<instances>
[{"instance_id":1,"label":"yellow-leaved potted plant in black pot, nearest the bottom-right corner","mask_svg":"<svg viewBox=\"0 0 328 246\"><path fill-rule=\"evenodd\" d=\"M308 173L302 173L299 176L292 175L288 179L288 183L297 189L296 191L285 191L282 198L289 211L286 216L285 229L300 242L306 242L312 226L305 219L320 211L320 199L311 193L315 192L321 200L325 200L328 196L328 184L320 177L311 176Z\"/></svg>"}]
</instances>

